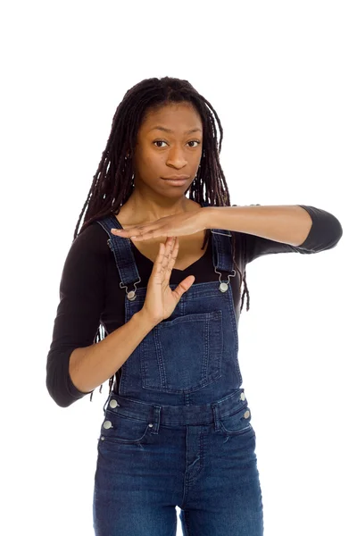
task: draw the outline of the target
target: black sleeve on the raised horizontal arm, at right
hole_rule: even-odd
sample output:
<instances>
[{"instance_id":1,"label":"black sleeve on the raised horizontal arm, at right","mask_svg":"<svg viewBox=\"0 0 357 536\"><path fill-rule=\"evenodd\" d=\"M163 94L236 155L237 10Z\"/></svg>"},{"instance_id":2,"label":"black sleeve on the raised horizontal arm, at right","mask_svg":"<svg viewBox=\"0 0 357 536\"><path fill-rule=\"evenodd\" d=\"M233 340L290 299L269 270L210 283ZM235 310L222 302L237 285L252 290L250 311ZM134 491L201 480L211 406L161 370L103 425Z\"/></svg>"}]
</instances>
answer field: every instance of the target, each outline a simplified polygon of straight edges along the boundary
<instances>
[{"instance_id":1,"label":"black sleeve on the raised horizontal arm, at right","mask_svg":"<svg viewBox=\"0 0 357 536\"><path fill-rule=\"evenodd\" d=\"M244 264L251 263L262 255L275 253L311 254L335 247L343 234L341 223L336 216L315 206L298 205L306 210L312 220L311 230L300 246L290 246L275 240L263 239L246 233L235 233L237 251L244 255Z\"/></svg>"}]
</instances>

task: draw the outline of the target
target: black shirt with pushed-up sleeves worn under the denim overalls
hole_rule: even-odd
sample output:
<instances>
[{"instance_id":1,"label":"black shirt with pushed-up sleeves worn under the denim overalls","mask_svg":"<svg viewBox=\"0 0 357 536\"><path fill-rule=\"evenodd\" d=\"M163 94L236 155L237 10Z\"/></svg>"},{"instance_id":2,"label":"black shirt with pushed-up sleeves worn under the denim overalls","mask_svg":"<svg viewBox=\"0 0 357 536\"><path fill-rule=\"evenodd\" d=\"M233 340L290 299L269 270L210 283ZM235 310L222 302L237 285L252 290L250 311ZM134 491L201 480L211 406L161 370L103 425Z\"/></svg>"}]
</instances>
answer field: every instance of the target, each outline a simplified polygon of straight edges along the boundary
<instances>
[{"instance_id":1,"label":"black shirt with pushed-up sleeves worn under the denim overalls","mask_svg":"<svg viewBox=\"0 0 357 536\"><path fill-rule=\"evenodd\" d=\"M262 255L296 252L319 253L335 247L343 230L336 216L314 206L302 206L312 220L309 235L299 247L290 246L255 235L231 231L236 245L236 263L242 274L245 265ZM195 283L217 281L212 264L212 239L204 255L186 270L171 272L170 283L179 284L187 275L195 275ZM54 320L53 340L47 355L46 387L58 406L67 407L88 393L75 387L69 373L69 361L75 348L94 343L100 323L110 334L125 322L125 289L120 289L120 277L114 255L107 244L108 236L96 222L88 225L72 242L65 260L60 283L60 303ZM153 262L142 255L131 242L141 282L147 287ZM235 307L239 314L239 274L231 278ZM116 373L114 390L119 384Z\"/></svg>"}]
</instances>

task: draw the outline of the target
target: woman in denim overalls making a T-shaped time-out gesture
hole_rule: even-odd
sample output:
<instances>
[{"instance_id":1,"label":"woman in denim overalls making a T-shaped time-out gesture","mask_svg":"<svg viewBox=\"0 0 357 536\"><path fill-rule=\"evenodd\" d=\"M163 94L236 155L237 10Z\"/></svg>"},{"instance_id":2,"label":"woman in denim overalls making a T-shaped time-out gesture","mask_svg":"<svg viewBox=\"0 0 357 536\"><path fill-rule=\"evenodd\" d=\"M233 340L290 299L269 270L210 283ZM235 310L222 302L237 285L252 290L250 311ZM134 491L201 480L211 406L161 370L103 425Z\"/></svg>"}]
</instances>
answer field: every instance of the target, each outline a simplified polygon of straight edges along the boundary
<instances>
[{"instance_id":1,"label":"woman in denim overalls making a T-shaped time-out gesture","mask_svg":"<svg viewBox=\"0 0 357 536\"><path fill-rule=\"evenodd\" d=\"M65 407L110 380L97 536L173 535L176 506L185 535L263 532L237 359L245 266L335 247L342 228L312 206L230 206L222 135L186 80L129 89L64 264L46 384Z\"/></svg>"}]
</instances>

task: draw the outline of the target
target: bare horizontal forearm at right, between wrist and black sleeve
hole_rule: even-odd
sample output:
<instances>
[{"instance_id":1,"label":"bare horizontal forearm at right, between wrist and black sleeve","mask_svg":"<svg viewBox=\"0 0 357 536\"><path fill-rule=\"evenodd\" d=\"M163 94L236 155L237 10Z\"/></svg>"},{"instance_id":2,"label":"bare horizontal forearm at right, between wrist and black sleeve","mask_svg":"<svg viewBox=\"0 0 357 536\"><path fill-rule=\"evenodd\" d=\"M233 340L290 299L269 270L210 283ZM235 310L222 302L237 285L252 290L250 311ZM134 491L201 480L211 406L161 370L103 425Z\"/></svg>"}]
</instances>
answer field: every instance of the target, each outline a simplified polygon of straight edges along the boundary
<instances>
[{"instance_id":1,"label":"bare horizontal forearm at right, between wrist and black sleeve","mask_svg":"<svg viewBox=\"0 0 357 536\"><path fill-rule=\"evenodd\" d=\"M206 229L245 232L298 247L311 230L310 214L298 205L206 206Z\"/></svg>"}]
</instances>

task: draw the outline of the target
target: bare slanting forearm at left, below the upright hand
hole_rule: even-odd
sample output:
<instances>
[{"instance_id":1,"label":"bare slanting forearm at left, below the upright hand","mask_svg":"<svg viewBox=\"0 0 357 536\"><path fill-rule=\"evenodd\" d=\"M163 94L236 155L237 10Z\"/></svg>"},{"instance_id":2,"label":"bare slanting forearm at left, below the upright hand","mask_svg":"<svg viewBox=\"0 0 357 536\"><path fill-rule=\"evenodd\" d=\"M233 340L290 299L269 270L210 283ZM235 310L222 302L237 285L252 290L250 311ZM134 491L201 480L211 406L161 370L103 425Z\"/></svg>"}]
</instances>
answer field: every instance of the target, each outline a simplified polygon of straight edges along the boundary
<instances>
[{"instance_id":1,"label":"bare slanting forearm at left, below the upright hand","mask_svg":"<svg viewBox=\"0 0 357 536\"><path fill-rule=\"evenodd\" d=\"M70 357L70 376L75 387L88 393L111 378L154 325L139 311L104 340L73 350Z\"/></svg>"}]
</instances>

